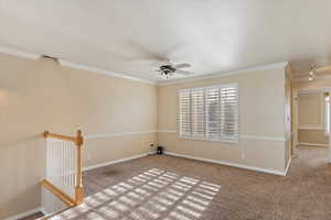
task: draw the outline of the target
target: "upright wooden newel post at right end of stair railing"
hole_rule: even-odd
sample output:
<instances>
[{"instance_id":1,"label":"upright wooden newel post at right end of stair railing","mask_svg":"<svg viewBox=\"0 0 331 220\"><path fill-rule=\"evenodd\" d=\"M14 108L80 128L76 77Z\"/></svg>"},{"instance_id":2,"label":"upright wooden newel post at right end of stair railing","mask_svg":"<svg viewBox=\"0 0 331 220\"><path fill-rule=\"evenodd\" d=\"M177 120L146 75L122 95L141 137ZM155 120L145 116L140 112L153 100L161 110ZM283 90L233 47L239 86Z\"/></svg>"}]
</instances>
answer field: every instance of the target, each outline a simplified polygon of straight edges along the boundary
<instances>
[{"instance_id":1,"label":"upright wooden newel post at right end of stair railing","mask_svg":"<svg viewBox=\"0 0 331 220\"><path fill-rule=\"evenodd\" d=\"M76 186L75 186L75 201L77 205L82 204L84 201L84 189L83 189L83 183L82 183L82 154L83 154L83 144L84 139L82 136L82 131L77 131L77 140L76 140L76 146L77 146L77 161L76 161Z\"/></svg>"}]
</instances>

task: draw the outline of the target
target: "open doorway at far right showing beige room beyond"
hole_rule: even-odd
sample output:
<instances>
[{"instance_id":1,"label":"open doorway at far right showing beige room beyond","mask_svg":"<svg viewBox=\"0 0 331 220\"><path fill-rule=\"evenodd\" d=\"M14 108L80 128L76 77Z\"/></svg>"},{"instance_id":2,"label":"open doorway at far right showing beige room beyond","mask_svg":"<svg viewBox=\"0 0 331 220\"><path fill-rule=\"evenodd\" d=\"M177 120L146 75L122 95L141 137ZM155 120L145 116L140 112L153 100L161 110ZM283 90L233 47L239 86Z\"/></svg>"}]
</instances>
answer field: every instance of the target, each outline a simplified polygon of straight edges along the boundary
<instances>
[{"instance_id":1,"label":"open doorway at far right showing beige room beyond","mask_svg":"<svg viewBox=\"0 0 331 220\"><path fill-rule=\"evenodd\" d=\"M330 89L298 90L295 101L295 156L330 163Z\"/></svg>"}]
</instances>

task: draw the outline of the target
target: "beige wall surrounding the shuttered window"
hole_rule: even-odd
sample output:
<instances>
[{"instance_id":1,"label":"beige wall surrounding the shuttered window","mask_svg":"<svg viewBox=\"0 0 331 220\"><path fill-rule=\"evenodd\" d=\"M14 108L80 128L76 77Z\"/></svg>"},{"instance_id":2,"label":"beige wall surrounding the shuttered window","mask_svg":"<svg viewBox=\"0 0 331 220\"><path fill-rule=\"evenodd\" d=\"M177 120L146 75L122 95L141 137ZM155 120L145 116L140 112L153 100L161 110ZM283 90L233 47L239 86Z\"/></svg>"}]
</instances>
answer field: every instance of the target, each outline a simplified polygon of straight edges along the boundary
<instances>
[{"instance_id":1,"label":"beige wall surrounding the shuttered window","mask_svg":"<svg viewBox=\"0 0 331 220\"><path fill-rule=\"evenodd\" d=\"M220 84L238 84L239 142L179 139L175 133L179 89ZM287 161L285 84L285 69L273 69L162 86L159 129L164 132L159 133L159 143L178 154L282 172Z\"/></svg>"}]
</instances>

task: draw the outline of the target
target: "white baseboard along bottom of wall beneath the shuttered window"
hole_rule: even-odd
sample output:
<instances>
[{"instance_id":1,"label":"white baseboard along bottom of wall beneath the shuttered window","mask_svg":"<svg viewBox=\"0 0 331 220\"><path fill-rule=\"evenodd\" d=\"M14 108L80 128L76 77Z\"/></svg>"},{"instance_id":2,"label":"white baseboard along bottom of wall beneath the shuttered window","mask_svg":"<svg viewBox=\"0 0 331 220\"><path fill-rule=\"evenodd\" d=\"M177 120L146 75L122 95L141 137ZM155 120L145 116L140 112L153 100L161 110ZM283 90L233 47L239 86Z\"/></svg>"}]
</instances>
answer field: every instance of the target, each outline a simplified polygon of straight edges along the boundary
<instances>
[{"instance_id":1,"label":"white baseboard along bottom of wall beneath the shuttered window","mask_svg":"<svg viewBox=\"0 0 331 220\"><path fill-rule=\"evenodd\" d=\"M256 166L247 166L247 165L243 165L243 164L235 164L235 163L229 163L229 162L195 157L195 156L190 156L190 155L185 155L185 154L177 154L177 153L172 153L172 152L164 152L164 153L168 154L168 155L172 155L172 156L192 158L192 160L196 160L196 161L210 162L210 163L214 163L214 164L221 164L221 165L232 166L232 167L237 167L237 168L245 168L245 169L250 169L250 170L255 170L255 172L274 174L274 175L278 175L278 176L286 176L287 169L289 167L289 164L288 164L287 169L281 172L281 170L276 170L276 169L266 169L266 168L259 168L259 167L256 167Z\"/></svg>"}]
</instances>

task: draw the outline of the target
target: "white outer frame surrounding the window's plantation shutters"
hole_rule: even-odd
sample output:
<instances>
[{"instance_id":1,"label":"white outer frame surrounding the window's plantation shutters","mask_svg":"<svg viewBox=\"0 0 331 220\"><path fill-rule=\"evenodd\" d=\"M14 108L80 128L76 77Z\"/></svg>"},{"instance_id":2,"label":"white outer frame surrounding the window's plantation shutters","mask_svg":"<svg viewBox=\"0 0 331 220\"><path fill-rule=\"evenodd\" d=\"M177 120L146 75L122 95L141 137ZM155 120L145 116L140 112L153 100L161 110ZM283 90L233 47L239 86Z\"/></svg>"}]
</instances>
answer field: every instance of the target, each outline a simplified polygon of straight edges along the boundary
<instances>
[{"instance_id":1,"label":"white outer frame surrounding the window's plantation shutters","mask_svg":"<svg viewBox=\"0 0 331 220\"><path fill-rule=\"evenodd\" d=\"M195 138L191 135L181 135L181 100L180 100L180 95L182 91L191 91L194 89L207 89L207 88L228 88L228 87L235 87L236 88L236 125L237 125L237 135L234 139L211 139L211 138ZM205 96L204 96L205 99ZM205 108L206 108L206 101ZM205 113L205 111L204 111ZM205 117L207 121L207 116ZM192 125L192 124L191 124ZM207 130L207 127L206 127ZM185 88L185 89L179 89L178 90L178 138L179 139L188 139L188 140L196 140L196 141L212 141L212 142L225 142L225 143L238 143L239 141L239 87L238 84L222 84L222 85L213 85L213 86L207 86L207 87L193 87L193 88ZM209 132L206 131L206 134Z\"/></svg>"}]
</instances>

